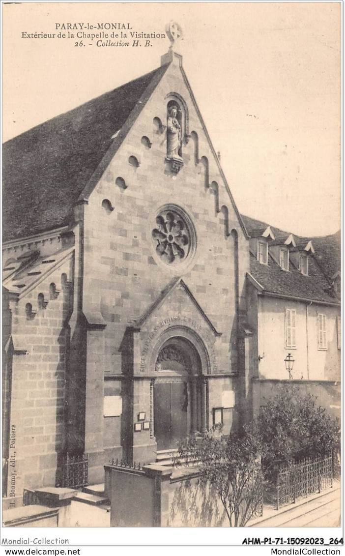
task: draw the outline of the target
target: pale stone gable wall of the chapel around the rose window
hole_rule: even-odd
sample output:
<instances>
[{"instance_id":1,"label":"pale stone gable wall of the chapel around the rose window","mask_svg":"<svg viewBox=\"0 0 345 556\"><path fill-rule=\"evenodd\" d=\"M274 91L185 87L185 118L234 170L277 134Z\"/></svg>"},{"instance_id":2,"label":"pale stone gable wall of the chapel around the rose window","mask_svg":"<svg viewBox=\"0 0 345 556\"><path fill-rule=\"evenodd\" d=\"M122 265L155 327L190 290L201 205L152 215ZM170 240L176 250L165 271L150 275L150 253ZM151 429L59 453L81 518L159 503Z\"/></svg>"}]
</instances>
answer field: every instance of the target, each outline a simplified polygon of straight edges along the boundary
<instances>
[{"instance_id":1,"label":"pale stone gable wall of the chapel around the rose window","mask_svg":"<svg viewBox=\"0 0 345 556\"><path fill-rule=\"evenodd\" d=\"M177 175L165 161L166 132L154 123L158 117L166 125L167 95L171 92L181 95L187 104L192 135L188 144L183 141L184 166ZM139 166L131 165L131 156L137 158ZM102 206L104 200L108 203ZM182 207L196 229L196 254L183 271L157 260L152 244L157 211L167 203ZM104 375L110 378L121 374L120 347L126 327L133 325L178 275L183 276L214 327L222 332L216 353L218 372L237 370L232 230L238 236L241 309L249 268L247 240L181 70L171 66L85 206L83 310L100 311L107 322ZM117 439L113 430L109 434L112 443L119 445L120 428L117 430ZM109 445L108 440L105 443Z\"/></svg>"}]
</instances>

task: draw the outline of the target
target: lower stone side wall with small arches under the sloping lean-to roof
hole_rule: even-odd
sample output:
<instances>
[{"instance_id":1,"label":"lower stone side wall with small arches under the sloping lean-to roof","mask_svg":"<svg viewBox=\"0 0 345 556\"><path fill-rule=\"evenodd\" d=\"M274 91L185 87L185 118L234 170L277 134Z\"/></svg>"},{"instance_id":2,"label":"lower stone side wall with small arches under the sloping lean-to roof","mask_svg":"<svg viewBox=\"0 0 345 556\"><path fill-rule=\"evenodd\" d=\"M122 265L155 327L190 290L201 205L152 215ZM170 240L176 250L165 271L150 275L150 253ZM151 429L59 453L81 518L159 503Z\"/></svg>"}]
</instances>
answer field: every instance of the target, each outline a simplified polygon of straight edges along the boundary
<instances>
[{"instance_id":1,"label":"lower stone side wall with small arches under the sloping lean-to roof","mask_svg":"<svg viewBox=\"0 0 345 556\"><path fill-rule=\"evenodd\" d=\"M69 257L18 302L11 302L12 367L9 484L21 504L23 488L54 486L57 453L64 441L64 384L69 331L64 322L71 312L73 260ZM72 282L71 282L72 281ZM49 285L59 294L52 299ZM43 293L45 308L38 307ZM27 316L26 304L36 314ZM13 456L11 464L11 455ZM11 486L8 493L11 492ZM11 502L11 499L10 499Z\"/></svg>"}]
</instances>

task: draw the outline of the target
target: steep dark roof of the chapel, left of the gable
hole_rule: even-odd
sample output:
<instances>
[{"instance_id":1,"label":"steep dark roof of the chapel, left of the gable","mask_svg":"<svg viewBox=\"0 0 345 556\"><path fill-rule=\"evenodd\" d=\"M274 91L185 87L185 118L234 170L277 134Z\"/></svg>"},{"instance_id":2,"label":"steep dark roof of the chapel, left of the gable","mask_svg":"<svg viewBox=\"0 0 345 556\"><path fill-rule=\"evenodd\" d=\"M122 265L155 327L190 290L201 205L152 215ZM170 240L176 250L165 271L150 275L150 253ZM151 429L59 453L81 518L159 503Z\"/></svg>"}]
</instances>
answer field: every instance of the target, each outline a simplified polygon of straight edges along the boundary
<instances>
[{"instance_id":1,"label":"steep dark roof of the chapel, left of the gable","mask_svg":"<svg viewBox=\"0 0 345 556\"><path fill-rule=\"evenodd\" d=\"M130 115L132 120L138 116L167 67L4 143L4 241L68 223L74 203L108 148L116 142L118 148L124 138L112 136Z\"/></svg>"}]
</instances>

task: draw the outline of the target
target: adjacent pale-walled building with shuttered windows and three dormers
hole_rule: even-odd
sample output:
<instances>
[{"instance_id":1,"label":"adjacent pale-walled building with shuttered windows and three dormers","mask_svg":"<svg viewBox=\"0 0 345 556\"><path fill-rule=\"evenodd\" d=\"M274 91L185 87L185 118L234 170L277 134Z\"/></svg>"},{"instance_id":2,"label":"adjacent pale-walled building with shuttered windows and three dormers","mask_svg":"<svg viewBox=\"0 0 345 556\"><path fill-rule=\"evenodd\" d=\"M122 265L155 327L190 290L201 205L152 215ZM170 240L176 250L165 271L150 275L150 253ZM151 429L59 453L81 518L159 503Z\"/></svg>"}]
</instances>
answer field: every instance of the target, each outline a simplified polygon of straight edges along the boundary
<instances>
[{"instance_id":1,"label":"adjacent pale-walled building with shuttered windows and three dormers","mask_svg":"<svg viewBox=\"0 0 345 556\"><path fill-rule=\"evenodd\" d=\"M252 376L259 379L265 395L272 386L267 379L307 381L303 388L310 391L312 385L313 393L340 416L340 233L299 237L242 218L250 236L247 318L254 331Z\"/></svg>"}]
</instances>

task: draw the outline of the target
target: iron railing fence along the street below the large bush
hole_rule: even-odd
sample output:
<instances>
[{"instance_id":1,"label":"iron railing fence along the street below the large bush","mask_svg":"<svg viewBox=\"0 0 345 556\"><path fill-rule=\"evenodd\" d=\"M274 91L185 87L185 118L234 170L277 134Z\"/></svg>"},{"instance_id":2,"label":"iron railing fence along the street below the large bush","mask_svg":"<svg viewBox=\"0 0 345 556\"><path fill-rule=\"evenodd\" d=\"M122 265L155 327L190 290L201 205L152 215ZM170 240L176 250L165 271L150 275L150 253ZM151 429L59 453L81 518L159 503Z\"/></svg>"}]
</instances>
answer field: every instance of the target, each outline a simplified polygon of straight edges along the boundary
<instances>
[{"instance_id":1,"label":"iron railing fence along the street below the large bush","mask_svg":"<svg viewBox=\"0 0 345 556\"><path fill-rule=\"evenodd\" d=\"M277 510L298 498L319 493L333 485L332 454L305 458L279 469L277 475Z\"/></svg>"}]
</instances>

